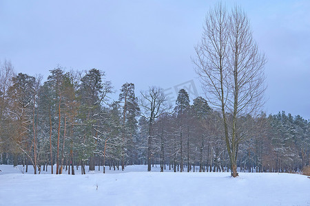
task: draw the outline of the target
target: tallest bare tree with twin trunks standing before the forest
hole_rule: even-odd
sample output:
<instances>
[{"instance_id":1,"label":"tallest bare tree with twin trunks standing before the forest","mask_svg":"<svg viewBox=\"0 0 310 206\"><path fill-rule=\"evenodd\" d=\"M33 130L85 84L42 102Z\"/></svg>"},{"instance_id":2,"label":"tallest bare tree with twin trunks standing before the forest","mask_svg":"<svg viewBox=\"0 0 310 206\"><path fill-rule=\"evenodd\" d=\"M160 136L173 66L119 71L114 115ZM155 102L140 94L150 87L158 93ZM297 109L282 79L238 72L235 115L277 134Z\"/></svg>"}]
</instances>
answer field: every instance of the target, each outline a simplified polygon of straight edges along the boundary
<instances>
[{"instance_id":1,"label":"tallest bare tree with twin trunks standing before the forest","mask_svg":"<svg viewBox=\"0 0 310 206\"><path fill-rule=\"evenodd\" d=\"M238 117L258 111L265 91L265 56L258 52L245 12L235 6L230 13L217 3L205 19L202 41L195 47L196 73L209 102L220 109L231 175L237 173Z\"/></svg>"}]
</instances>

